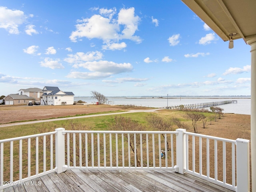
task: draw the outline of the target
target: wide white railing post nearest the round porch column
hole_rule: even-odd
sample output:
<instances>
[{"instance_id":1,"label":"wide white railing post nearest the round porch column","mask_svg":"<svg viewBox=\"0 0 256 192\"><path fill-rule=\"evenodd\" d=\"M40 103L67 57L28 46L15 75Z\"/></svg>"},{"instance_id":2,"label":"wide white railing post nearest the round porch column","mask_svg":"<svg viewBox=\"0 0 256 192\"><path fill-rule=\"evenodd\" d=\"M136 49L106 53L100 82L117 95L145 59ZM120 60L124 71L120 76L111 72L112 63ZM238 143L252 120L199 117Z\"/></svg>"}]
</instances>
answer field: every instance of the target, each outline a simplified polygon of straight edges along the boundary
<instances>
[{"instance_id":1,"label":"wide white railing post nearest the round porch column","mask_svg":"<svg viewBox=\"0 0 256 192\"><path fill-rule=\"evenodd\" d=\"M236 185L237 192L250 191L250 154L249 140L236 140Z\"/></svg>"}]
</instances>

